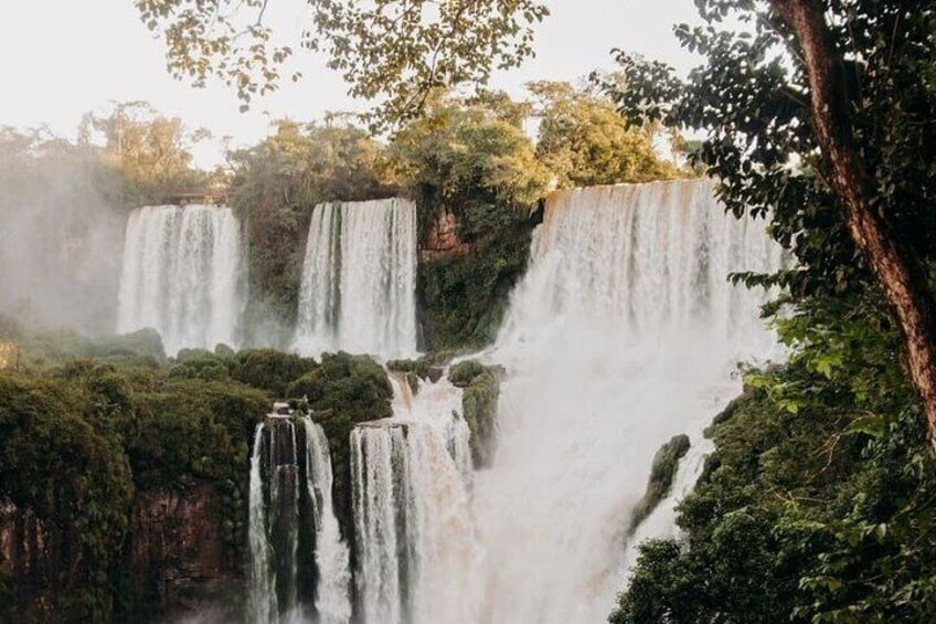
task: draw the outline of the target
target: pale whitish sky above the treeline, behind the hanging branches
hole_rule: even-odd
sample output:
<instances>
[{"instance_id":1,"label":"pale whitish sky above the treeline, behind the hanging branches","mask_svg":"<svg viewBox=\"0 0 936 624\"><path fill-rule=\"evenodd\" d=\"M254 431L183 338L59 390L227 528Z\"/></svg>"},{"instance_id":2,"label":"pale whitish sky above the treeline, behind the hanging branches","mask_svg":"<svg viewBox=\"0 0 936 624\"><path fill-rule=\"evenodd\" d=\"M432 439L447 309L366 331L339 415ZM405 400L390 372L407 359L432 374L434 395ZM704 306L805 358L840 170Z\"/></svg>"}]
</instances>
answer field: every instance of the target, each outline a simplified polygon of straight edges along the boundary
<instances>
[{"instance_id":1,"label":"pale whitish sky above the treeline, behind the hanging branches","mask_svg":"<svg viewBox=\"0 0 936 624\"><path fill-rule=\"evenodd\" d=\"M305 0L270 0L272 25L288 36L300 30ZM515 96L533 80L575 80L611 68L621 47L687 68L692 57L672 35L678 22L698 21L692 0L547 0L552 15L538 28L536 57L494 76L492 86ZM298 84L238 112L223 85L193 88L166 72L162 42L139 21L132 0L30 0L7 8L0 20L0 125L47 125L72 137L83 113L105 113L113 102L143 99L191 127L205 127L232 145L266 136L269 119L320 118L326 110L358 110L366 103L345 95L340 77L320 56L299 51ZM196 151L200 165L221 158L220 142Z\"/></svg>"}]
</instances>

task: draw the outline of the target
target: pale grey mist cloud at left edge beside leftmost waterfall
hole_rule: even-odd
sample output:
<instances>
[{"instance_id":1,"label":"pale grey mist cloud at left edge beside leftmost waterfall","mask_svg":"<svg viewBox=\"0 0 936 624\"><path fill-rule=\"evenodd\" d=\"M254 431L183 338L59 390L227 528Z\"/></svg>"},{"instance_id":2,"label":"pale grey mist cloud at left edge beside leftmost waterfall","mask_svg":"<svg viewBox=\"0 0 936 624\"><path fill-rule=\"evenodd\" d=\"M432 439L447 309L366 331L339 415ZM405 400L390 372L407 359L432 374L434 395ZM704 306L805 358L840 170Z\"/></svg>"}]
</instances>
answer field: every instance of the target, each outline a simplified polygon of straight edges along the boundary
<instances>
[{"instance_id":1,"label":"pale grey mist cloud at left edge beside leftmost waterfall","mask_svg":"<svg viewBox=\"0 0 936 624\"><path fill-rule=\"evenodd\" d=\"M0 129L0 313L85 334L114 328L124 216L100 163Z\"/></svg>"}]
</instances>

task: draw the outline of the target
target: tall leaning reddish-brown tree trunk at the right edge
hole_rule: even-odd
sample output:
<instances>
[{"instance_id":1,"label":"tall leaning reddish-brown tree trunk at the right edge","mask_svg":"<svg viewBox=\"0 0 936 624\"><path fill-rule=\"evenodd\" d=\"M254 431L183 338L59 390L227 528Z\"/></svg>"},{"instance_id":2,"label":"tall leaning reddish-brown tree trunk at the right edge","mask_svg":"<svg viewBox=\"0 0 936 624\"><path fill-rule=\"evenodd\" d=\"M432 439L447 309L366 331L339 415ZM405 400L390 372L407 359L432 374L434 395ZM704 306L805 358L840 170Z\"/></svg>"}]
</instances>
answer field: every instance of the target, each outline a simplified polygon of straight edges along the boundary
<instances>
[{"instance_id":1,"label":"tall leaning reddish-brown tree trunk at the right edge","mask_svg":"<svg viewBox=\"0 0 936 624\"><path fill-rule=\"evenodd\" d=\"M906 342L911 381L923 400L929 443L936 453L936 302L910 246L873 208L873 179L849 123L842 59L825 19L822 0L770 0L799 44L809 78L812 126L829 167L845 226L864 253Z\"/></svg>"}]
</instances>

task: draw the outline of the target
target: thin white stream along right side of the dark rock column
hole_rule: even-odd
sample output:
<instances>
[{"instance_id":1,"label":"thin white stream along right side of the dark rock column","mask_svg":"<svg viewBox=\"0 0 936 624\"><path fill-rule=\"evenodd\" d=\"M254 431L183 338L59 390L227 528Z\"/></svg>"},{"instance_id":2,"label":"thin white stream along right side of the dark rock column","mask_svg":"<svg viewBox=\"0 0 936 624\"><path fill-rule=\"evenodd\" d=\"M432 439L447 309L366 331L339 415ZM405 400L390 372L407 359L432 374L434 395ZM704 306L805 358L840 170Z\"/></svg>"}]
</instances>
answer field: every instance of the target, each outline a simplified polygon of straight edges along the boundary
<instances>
[{"instance_id":1,"label":"thin white stream along right side of the dark rock column","mask_svg":"<svg viewBox=\"0 0 936 624\"><path fill-rule=\"evenodd\" d=\"M308 416L306 427L306 486L316 523L318 586L316 611L319 624L348 624L351 620L351 569L348 544L341 541L331 498L331 455L321 425Z\"/></svg>"}]
</instances>

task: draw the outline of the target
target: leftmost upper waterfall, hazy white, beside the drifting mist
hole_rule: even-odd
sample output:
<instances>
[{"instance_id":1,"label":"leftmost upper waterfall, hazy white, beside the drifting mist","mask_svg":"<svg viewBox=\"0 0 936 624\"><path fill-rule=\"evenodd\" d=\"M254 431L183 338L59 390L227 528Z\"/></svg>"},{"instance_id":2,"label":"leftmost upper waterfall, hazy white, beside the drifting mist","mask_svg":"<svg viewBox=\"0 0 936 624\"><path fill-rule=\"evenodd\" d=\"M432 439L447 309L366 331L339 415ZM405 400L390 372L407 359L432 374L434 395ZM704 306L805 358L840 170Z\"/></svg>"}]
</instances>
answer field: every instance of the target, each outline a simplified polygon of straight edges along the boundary
<instances>
[{"instance_id":1,"label":"leftmost upper waterfall, hazy white, beside the drifting mist","mask_svg":"<svg viewBox=\"0 0 936 624\"><path fill-rule=\"evenodd\" d=\"M236 345L241 226L230 208L158 205L130 213L117 331L152 327L167 353Z\"/></svg>"}]
</instances>

